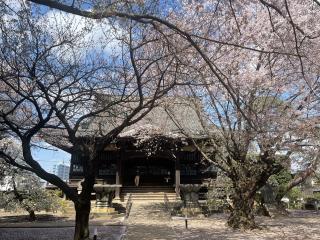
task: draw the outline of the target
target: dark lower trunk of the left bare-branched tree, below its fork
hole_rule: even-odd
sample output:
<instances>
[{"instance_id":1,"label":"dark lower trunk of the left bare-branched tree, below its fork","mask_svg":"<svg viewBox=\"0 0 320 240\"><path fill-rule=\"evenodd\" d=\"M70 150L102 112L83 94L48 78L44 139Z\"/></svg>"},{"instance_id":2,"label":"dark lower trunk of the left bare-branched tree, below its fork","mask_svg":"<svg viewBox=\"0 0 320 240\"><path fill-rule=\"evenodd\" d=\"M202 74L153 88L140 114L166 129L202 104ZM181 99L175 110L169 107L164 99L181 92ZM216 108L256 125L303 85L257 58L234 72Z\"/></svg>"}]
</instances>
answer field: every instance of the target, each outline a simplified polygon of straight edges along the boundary
<instances>
[{"instance_id":1,"label":"dark lower trunk of the left bare-branched tree, below its fork","mask_svg":"<svg viewBox=\"0 0 320 240\"><path fill-rule=\"evenodd\" d=\"M89 239L89 215L91 203L90 199L75 203L76 210L76 226L74 232L74 240Z\"/></svg>"}]
</instances>

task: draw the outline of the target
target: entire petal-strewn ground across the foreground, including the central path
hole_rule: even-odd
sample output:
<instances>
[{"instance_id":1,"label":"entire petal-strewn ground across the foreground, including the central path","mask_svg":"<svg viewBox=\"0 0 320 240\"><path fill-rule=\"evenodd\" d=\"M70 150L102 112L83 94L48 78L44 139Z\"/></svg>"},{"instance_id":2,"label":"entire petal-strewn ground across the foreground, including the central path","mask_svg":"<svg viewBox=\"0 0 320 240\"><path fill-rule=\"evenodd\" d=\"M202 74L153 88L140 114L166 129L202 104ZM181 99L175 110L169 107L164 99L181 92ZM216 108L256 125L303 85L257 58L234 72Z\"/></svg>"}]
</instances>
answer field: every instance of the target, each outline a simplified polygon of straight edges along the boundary
<instances>
[{"instance_id":1,"label":"entire petal-strewn ground across the foreground, including the central path","mask_svg":"<svg viewBox=\"0 0 320 240\"><path fill-rule=\"evenodd\" d=\"M172 219L161 204L134 204L124 225L97 226L99 240L319 240L320 212L292 211L288 217L256 217L261 230L233 231L228 215L190 219L188 229L181 219ZM8 220L8 219L5 219ZM61 221L61 220L60 220ZM110 220L109 220L110 221ZM58 221L59 222L59 221ZM24 223L25 224L25 223ZM69 240L73 227L0 228L0 240ZM93 227L91 228L93 233Z\"/></svg>"}]
</instances>

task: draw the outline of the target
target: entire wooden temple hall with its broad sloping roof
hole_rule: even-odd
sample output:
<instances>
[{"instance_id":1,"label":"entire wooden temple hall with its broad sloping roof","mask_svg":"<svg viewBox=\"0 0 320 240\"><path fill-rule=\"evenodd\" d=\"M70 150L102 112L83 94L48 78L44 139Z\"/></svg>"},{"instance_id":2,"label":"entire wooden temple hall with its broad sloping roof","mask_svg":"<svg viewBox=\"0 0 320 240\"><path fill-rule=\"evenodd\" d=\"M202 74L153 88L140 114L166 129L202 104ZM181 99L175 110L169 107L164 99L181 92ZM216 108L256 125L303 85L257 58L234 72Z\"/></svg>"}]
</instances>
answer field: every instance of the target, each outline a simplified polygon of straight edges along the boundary
<instances>
[{"instance_id":1,"label":"entire wooden temple hall with its broad sloping roof","mask_svg":"<svg viewBox=\"0 0 320 240\"><path fill-rule=\"evenodd\" d=\"M171 111L183 119L180 124L201 138L201 124L196 121L194 110L186 104L175 102ZM96 172L97 185L114 189L113 197L124 201L128 194L148 200L157 198L156 192L165 192L172 199L180 198L180 186L200 185L205 179L215 177L215 171L203 163L201 154L191 139L180 133L172 116L163 107L152 110L138 124L130 126L97 157L99 169ZM209 170L208 170L209 169ZM73 156L70 168L70 184L76 185L85 170L80 157ZM96 191L97 197L99 190ZM143 196L143 197L142 197Z\"/></svg>"}]
</instances>

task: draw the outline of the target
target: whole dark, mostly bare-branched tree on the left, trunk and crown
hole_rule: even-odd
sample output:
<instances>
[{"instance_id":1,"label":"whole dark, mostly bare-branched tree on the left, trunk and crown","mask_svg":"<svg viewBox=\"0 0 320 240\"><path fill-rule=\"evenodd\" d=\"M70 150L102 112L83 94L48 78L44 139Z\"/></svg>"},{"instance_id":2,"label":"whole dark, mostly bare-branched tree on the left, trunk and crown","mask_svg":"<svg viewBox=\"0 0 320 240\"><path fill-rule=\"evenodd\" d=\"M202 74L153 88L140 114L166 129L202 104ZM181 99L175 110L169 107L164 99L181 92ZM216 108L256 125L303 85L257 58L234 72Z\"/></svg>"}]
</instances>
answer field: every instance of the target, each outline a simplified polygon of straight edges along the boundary
<instances>
[{"instance_id":1,"label":"whole dark, mostly bare-branched tree on the left, trunk and crown","mask_svg":"<svg viewBox=\"0 0 320 240\"><path fill-rule=\"evenodd\" d=\"M58 186L75 205L74 239L86 239L96 157L179 83L178 53L131 20L100 23L102 40L95 48L90 34L96 23L56 13L52 24L47 12L23 1L18 10L5 2L1 8L1 132L21 146L23 164L6 148L0 156ZM110 38L117 42L114 51L103 48ZM109 120L87 129L96 118ZM81 193L34 159L32 149L42 141L84 159Z\"/></svg>"}]
</instances>

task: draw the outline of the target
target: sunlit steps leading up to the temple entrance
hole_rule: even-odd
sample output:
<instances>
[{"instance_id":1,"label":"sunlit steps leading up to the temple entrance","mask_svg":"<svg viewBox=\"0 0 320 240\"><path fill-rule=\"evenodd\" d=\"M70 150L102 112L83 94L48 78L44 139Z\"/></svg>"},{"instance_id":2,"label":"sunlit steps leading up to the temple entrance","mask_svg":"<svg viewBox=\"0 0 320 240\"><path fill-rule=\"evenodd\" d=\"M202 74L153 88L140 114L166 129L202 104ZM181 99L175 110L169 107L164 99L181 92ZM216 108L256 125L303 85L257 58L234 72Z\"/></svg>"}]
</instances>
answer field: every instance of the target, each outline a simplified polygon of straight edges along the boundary
<instances>
[{"instance_id":1,"label":"sunlit steps leading up to the temple entrance","mask_svg":"<svg viewBox=\"0 0 320 240\"><path fill-rule=\"evenodd\" d=\"M126 202L131 194L132 202L173 202L180 200L177 198L173 187L167 186L142 186L123 187L120 199Z\"/></svg>"}]
</instances>

